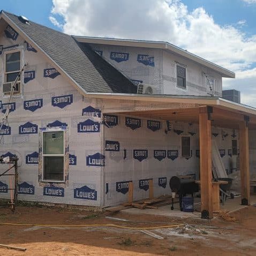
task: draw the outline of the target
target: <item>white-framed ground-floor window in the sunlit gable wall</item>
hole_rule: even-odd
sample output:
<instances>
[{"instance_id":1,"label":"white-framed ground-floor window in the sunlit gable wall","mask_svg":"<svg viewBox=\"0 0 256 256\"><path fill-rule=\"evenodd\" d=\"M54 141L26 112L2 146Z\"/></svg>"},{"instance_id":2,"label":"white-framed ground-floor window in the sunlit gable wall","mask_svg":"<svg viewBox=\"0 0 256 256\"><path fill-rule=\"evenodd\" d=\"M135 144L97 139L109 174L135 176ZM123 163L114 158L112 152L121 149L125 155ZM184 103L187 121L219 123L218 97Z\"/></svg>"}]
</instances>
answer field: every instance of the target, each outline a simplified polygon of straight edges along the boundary
<instances>
[{"instance_id":1,"label":"white-framed ground-floor window in the sunlit gable wall","mask_svg":"<svg viewBox=\"0 0 256 256\"><path fill-rule=\"evenodd\" d=\"M42 181L64 182L64 131L43 131Z\"/></svg>"}]
</instances>

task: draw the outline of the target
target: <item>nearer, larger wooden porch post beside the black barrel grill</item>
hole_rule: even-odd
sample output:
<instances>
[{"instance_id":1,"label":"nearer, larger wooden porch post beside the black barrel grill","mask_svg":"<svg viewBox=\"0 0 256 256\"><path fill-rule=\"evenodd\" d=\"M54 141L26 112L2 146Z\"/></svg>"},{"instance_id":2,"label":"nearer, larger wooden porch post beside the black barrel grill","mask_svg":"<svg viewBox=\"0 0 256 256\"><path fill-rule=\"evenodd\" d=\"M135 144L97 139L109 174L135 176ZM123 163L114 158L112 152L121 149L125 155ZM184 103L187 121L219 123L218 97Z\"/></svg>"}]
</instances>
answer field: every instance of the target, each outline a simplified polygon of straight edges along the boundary
<instances>
[{"instance_id":1,"label":"nearer, larger wooden porch post beside the black barrel grill","mask_svg":"<svg viewBox=\"0 0 256 256\"><path fill-rule=\"evenodd\" d=\"M205 107L199 112L200 142L200 184L201 184L201 218L213 218L212 195L212 132L210 115L212 107Z\"/></svg>"}]
</instances>

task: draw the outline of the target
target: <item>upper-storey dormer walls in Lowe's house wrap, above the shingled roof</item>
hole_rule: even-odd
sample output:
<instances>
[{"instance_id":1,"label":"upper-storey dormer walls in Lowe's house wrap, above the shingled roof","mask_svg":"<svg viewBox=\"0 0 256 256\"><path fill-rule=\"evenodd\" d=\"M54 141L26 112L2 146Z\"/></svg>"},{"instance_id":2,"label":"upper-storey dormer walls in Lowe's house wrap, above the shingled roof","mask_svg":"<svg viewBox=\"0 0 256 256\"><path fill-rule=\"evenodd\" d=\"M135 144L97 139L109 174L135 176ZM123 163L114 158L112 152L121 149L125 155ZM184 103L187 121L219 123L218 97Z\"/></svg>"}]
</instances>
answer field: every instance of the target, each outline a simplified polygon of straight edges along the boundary
<instances>
[{"instance_id":1,"label":"upper-storey dormer walls in Lowe's house wrap, above the shingled roof","mask_svg":"<svg viewBox=\"0 0 256 256\"><path fill-rule=\"evenodd\" d=\"M156 86L160 94L197 96L214 94L222 96L222 77L219 73L196 64L189 59L171 54L169 51L139 47L108 46L106 44L91 44L91 47L115 66L116 69L131 79L135 85L140 81ZM114 57L118 55L113 54L118 53L123 58ZM140 61L140 55L152 57L154 62ZM186 89L177 87L177 64L186 67ZM214 79L212 91L210 90L207 78Z\"/></svg>"}]
</instances>

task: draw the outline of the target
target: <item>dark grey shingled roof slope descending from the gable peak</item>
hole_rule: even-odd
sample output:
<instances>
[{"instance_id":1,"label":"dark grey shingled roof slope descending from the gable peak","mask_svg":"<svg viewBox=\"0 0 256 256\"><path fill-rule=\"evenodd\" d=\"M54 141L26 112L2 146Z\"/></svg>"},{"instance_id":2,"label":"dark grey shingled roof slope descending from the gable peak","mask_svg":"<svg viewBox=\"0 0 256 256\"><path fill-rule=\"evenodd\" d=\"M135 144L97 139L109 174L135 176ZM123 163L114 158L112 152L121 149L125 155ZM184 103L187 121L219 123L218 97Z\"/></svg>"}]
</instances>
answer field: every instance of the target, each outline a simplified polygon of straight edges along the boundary
<instances>
[{"instance_id":1,"label":"dark grey shingled roof slope descending from the gable peak","mask_svg":"<svg viewBox=\"0 0 256 256\"><path fill-rule=\"evenodd\" d=\"M1 11L13 29L19 29L63 71L82 92L137 93L137 87L111 64L96 54L88 44L79 43L71 35Z\"/></svg>"}]
</instances>

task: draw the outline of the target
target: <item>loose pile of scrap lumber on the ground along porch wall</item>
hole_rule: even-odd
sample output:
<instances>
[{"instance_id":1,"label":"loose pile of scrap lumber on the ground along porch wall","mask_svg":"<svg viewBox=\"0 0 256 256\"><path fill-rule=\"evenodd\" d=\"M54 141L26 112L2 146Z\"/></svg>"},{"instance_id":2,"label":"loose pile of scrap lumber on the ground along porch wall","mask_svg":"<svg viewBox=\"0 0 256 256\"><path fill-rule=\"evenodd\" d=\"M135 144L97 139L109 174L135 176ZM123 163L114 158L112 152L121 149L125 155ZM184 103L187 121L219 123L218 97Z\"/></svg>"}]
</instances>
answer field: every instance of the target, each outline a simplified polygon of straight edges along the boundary
<instances>
[{"instance_id":1,"label":"loose pile of scrap lumber on the ground along porch wall","mask_svg":"<svg viewBox=\"0 0 256 256\"><path fill-rule=\"evenodd\" d=\"M175 198L174 202L178 202L179 199ZM133 202L123 202L120 206L106 208L108 212L119 212L119 210L124 210L128 208L139 208L139 209L157 209L160 206L170 205L171 195L160 195L160 197L151 199L141 199Z\"/></svg>"}]
</instances>

